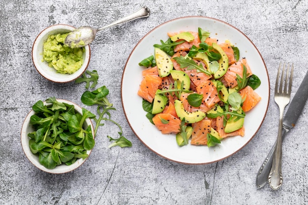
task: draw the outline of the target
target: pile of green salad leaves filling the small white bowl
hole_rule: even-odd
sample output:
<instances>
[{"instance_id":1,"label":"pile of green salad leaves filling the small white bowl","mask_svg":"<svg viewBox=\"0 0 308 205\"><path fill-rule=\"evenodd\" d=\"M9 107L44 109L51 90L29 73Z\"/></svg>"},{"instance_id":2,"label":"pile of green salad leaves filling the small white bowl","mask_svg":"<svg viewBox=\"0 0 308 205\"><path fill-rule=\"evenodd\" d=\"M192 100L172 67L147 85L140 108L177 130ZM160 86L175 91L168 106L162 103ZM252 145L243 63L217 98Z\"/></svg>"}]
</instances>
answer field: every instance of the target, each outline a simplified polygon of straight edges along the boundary
<instances>
[{"instance_id":1,"label":"pile of green salad leaves filling the small white bowl","mask_svg":"<svg viewBox=\"0 0 308 205\"><path fill-rule=\"evenodd\" d=\"M33 154L39 155L39 162L47 169L65 163L73 164L79 158L87 158L95 141L91 126L84 126L87 118L93 118L90 111L82 108L82 114L75 112L74 105L62 103L55 97L48 98L45 105L37 101L30 123L35 131L28 134Z\"/></svg>"}]
</instances>

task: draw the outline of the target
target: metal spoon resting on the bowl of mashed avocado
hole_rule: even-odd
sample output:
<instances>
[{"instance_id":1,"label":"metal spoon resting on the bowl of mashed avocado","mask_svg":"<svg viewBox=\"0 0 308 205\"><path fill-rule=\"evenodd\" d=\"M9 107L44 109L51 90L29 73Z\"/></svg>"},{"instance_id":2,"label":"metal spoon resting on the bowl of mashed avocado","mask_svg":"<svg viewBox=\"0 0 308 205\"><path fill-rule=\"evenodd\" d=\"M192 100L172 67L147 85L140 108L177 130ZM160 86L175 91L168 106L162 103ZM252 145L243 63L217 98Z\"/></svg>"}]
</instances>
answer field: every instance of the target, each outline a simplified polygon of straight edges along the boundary
<instances>
[{"instance_id":1,"label":"metal spoon resting on the bowl of mashed avocado","mask_svg":"<svg viewBox=\"0 0 308 205\"><path fill-rule=\"evenodd\" d=\"M144 18L150 16L150 9L148 7L142 7L135 13L132 13L118 21L115 21L107 26L100 29L93 29L89 26L83 26L78 29L71 31L65 38L64 45L70 48L80 48L85 45L90 44L94 38L97 31L106 29L115 25L123 24L135 19Z\"/></svg>"}]
</instances>

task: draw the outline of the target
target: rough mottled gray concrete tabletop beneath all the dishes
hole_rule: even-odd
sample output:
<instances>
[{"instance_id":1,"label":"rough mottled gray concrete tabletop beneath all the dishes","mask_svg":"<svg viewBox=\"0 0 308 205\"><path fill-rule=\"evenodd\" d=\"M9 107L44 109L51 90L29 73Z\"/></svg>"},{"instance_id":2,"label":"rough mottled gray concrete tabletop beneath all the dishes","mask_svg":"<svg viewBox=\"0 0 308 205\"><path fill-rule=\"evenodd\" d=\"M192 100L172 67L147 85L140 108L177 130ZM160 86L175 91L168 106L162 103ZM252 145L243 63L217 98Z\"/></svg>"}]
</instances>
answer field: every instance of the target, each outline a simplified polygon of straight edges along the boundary
<instances>
[{"instance_id":1,"label":"rough mottled gray concrete tabletop beneath all the dishes","mask_svg":"<svg viewBox=\"0 0 308 205\"><path fill-rule=\"evenodd\" d=\"M100 74L98 84L110 89L117 108L113 118L133 146L107 148L106 135L117 134L108 124L79 169L63 175L38 170L21 148L24 117L34 102L50 96L81 104L84 85L55 84L38 74L31 60L36 35L60 23L103 26L142 5L151 16L99 33L89 65ZM1 0L0 204L307 205L307 106L283 143L282 187L255 186L257 170L277 135L273 93L278 63L294 62L291 97L308 70L307 8L306 0ZM144 146L126 122L120 94L123 67L136 43L159 24L192 15L217 18L243 31L262 54L272 86L268 115L252 141L223 161L200 166L168 161Z\"/></svg>"}]
</instances>

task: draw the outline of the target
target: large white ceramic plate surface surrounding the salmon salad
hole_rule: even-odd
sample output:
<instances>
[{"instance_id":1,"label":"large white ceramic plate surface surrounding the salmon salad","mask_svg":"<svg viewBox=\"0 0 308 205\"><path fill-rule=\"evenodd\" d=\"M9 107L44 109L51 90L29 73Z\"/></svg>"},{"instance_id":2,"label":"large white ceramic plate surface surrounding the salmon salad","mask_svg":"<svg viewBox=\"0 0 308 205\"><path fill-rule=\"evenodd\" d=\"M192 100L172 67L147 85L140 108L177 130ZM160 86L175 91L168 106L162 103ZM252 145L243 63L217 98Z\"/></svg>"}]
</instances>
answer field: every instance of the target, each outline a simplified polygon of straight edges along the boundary
<instances>
[{"instance_id":1,"label":"large white ceramic plate surface surrounding the salmon salad","mask_svg":"<svg viewBox=\"0 0 308 205\"><path fill-rule=\"evenodd\" d=\"M262 97L255 108L246 113L245 136L224 139L215 147L192 146L180 147L175 135L163 135L146 118L142 108L142 98L137 95L142 71L138 63L154 55L154 44L168 39L167 32L198 31L198 27L210 31L211 37L219 42L230 40L240 50L240 59L245 57L252 70L261 80L261 86L255 91ZM270 96L269 77L266 65L254 44L239 29L217 19L207 17L184 17L159 25L145 35L131 52L122 76L122 104L127 121L139 140L161 157L183 164L213 163L239 151L253 138L260 128L267 113Z\"/></svg>"}]
</instances>

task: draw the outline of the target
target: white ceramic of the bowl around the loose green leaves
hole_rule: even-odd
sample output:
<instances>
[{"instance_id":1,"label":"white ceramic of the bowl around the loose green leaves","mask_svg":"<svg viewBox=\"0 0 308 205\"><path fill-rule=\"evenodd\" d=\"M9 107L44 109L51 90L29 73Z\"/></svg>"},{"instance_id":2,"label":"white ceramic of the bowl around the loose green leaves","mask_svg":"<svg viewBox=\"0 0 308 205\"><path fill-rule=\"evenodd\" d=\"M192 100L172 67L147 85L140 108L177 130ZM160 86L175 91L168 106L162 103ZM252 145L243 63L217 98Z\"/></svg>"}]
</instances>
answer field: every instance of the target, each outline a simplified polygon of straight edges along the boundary
<instances>
[{"instance_id":1,"label":"white ceramic of the bowl around the loose green leaves","mask_svg":"<svg viewBox=\"0 0 308 205\"><path fill-rule=\"evenodd\" d=\"M74 105L75 111L82 114L82 108L80 106L76 105L75 103L70 102L68 100L62 100L62 99L57 99L57 101L63 102L63 103L66 103L66 104L70 104L70 105ZM50 103L46 103L46 102L44 102L44 104L47 105L47 106L51 105ZM29 159L29 161L35 167L37 167L38 169L40 169L44 172L48 172L48 173L52 173L52 174L63 174L63 173L71 172L71 171L77 169L89 158L92 150L87 151L87 154L89 155L88 158L86 158L86 159L80 158L75 163L73 163L72 165L69 165L69 166L67 166L66 164L62 164L62 165L56 166L55 169L51 170L51 169L47 169L46 167L41 165L38 161L38 155L33 154L30 150L30 147L29 147L30 138L28 137L28 133L31 133L31 132L34 131L32 125L30 124L30 117L34 114L35 114L35 112L33 110L31 110L31 112L27 115L27 117L24 120L24 123L22 125L22 129L21 129L21 145L22 145L22 148L23 148L27 158ZM85 121L84 127L88 127L89 125L91 126L92 133L94 133L92 121L91 121L90 118L87 118L86 121ZM93 138L94 138L94 136L93 136Z\"/></svg>"}]
</instances>

